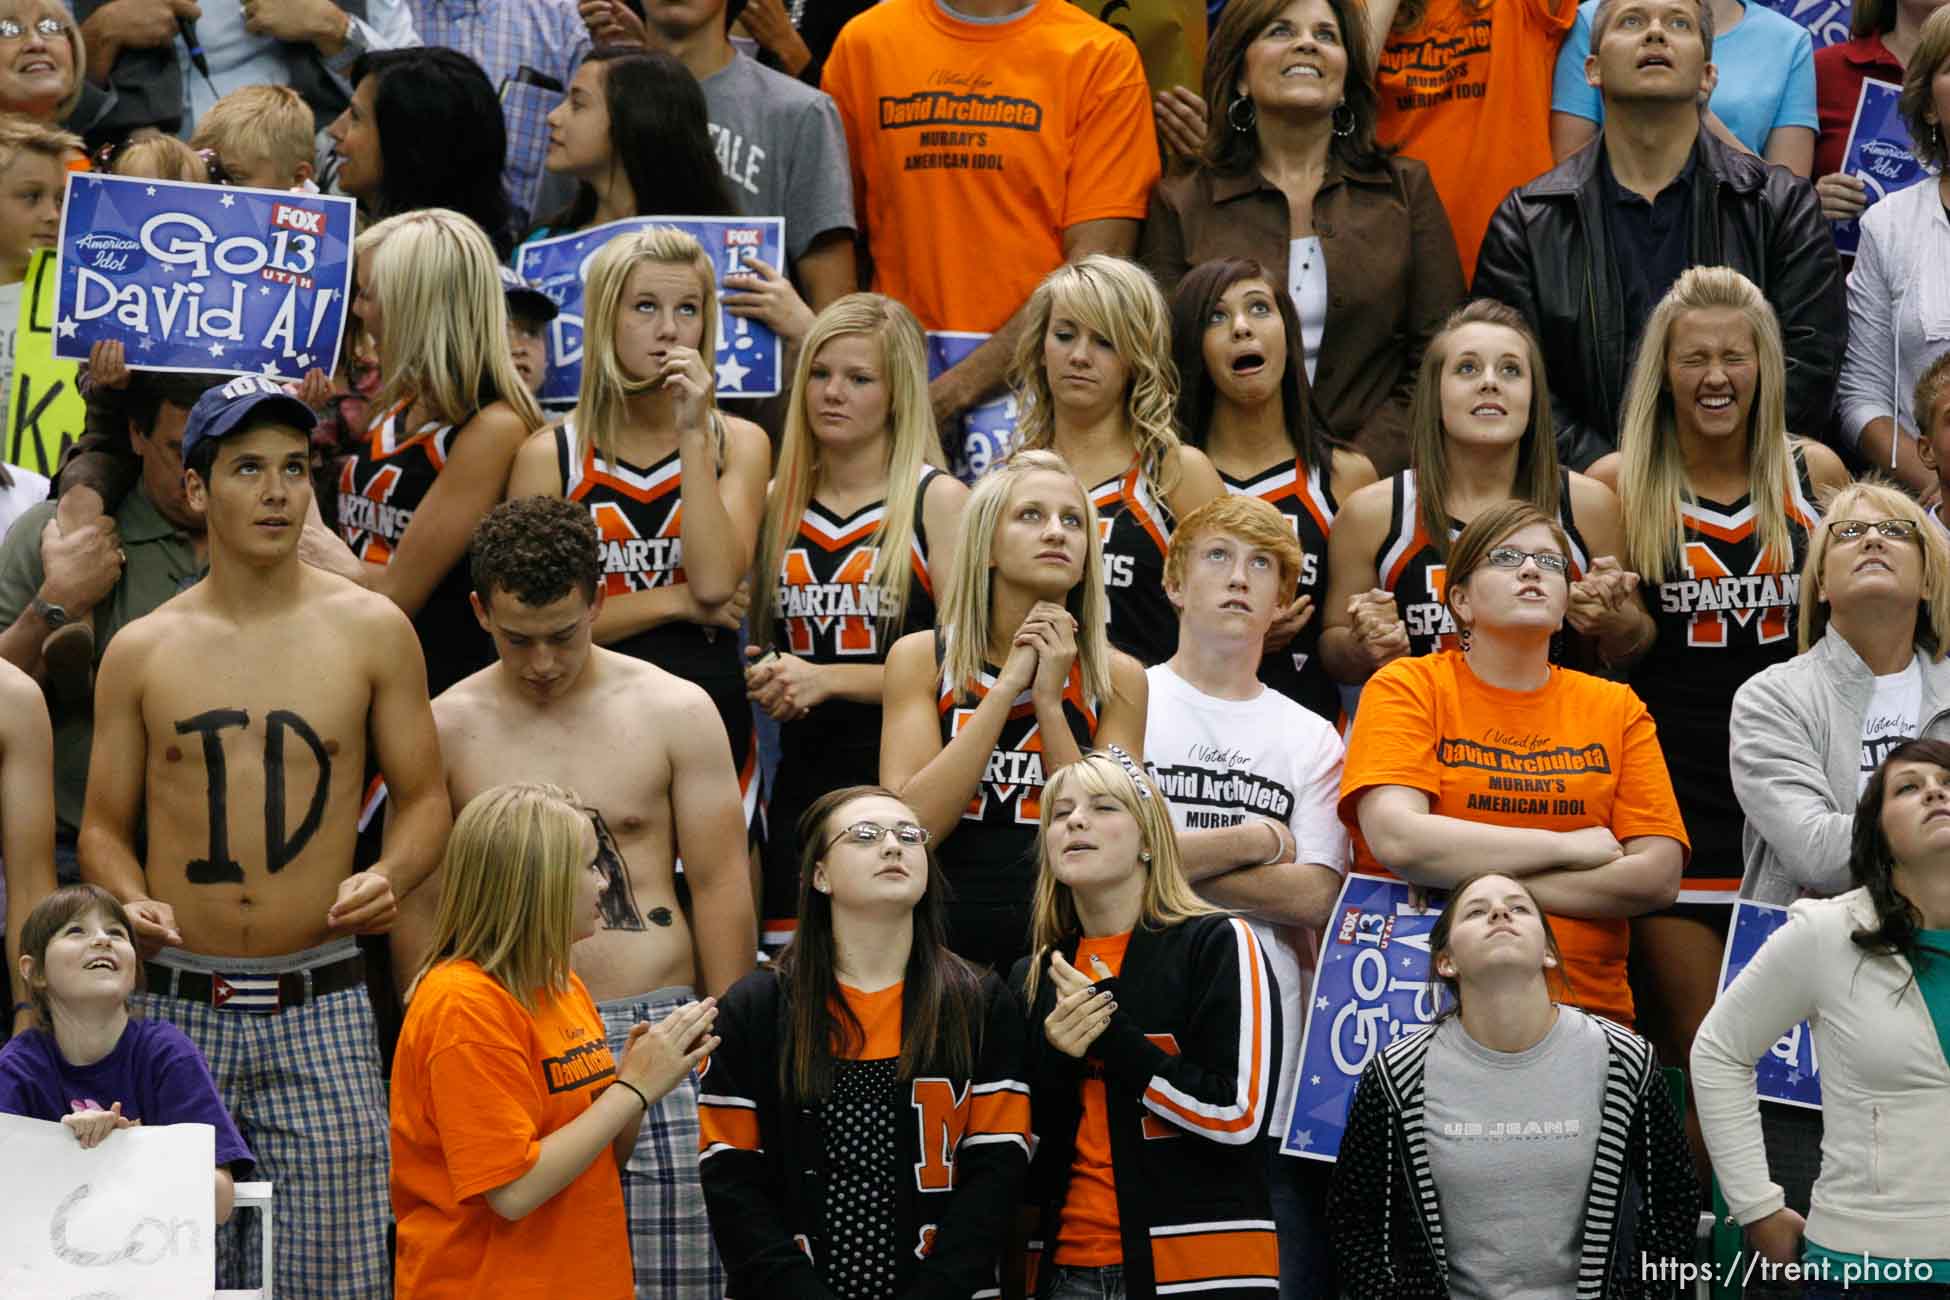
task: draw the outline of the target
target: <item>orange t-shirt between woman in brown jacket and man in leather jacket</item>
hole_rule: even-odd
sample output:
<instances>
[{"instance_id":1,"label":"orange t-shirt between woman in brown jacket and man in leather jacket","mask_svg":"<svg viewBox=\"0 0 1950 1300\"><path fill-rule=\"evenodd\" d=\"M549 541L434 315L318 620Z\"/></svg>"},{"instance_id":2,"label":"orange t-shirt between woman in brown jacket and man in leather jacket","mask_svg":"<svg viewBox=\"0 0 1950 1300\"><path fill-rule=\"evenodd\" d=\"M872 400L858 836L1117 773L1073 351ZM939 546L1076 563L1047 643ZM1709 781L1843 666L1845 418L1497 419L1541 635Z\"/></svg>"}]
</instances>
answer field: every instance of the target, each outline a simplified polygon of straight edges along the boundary
<instances>
[{"instance_id":1,"label":"orange t-shirt between woman in brown jacket and man in leather jacket","mask_svg":"<svg viewBox=\"0 0 1950 1300\"><path fill-rule=\"evenodd\" d=\"M1552 168L1550 76L1576 19L1578 0L1429 0L1381 49L1375 134L1429 168L1468 279L1496 205Z\"/></svg>"}]
</instances>

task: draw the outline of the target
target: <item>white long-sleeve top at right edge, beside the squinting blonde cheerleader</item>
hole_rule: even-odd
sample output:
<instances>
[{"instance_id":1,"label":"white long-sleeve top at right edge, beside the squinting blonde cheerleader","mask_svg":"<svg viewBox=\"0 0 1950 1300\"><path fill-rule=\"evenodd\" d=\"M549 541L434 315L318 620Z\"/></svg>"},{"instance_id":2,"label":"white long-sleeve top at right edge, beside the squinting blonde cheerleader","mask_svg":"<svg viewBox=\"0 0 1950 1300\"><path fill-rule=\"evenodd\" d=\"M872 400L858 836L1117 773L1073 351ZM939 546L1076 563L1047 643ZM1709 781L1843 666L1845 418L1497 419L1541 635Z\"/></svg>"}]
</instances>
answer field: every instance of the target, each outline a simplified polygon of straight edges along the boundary
<instances>
[{"instance_id":1,"label":"white long-sleeve top at right edge, beside the squinting blonde cheerleader","mask_svg":"<svg viewBox=\"0 0 1950 1300\"><path fill-rule=\"evenodd\" d=\"M1841 431L1858 444L1884 415L1915 437L1917 378L1950 351L1950 216L1934 179L1868 209L1849 273L1849 351L1837 398Z\"/></svg>"}]
</instances>

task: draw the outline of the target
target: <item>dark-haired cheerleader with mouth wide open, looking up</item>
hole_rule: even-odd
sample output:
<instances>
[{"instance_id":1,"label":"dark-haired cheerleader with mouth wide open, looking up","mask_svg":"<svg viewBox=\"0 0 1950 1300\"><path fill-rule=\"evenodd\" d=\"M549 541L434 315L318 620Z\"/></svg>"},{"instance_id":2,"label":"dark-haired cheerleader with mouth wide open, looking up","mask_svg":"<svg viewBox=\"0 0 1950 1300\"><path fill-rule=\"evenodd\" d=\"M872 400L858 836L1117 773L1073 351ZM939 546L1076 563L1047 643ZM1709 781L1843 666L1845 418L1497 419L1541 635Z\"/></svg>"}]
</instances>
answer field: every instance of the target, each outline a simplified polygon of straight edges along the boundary
<instances>
[{"instance_id":1,"label":"dark-haired cheerleader with mouth wide open, looking up","mask_svg":"<svg viewBox=\"0 0 1950 1300\"><path fill-rule=\"evenodd\" d=\"M1375 481L1375 466L1316 429L1310 386L1293 364L1299 339L1293 300L1256 261L1207 261L1178 283L1178 427L1228 493L1271 503L1301 542L1301 581L1266 633L1260 680L1336 721L1340 690L1318 653L1328 532L1338 503Z\"/></svg>"}]
</instances>

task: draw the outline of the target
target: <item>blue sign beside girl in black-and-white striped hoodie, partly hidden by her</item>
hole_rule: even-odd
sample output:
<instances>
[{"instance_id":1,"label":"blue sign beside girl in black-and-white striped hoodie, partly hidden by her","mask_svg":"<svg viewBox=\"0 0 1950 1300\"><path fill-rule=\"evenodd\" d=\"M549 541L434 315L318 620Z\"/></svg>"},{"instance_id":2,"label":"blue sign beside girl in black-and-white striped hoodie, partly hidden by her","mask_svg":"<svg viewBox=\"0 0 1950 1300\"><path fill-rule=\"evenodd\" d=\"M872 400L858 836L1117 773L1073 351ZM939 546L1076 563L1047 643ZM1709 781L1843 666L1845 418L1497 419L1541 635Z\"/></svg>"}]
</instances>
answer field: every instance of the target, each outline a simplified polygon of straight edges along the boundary
<instances>
[{"instance_id":1,"label":"blue sign beside girl in black-and-white striped hoodie, partly hidden by her","mask_svg":"<svg viewBox=\"0 0 1950 1300\"><path fill-rule=\"evenodd\" d=\"M1314 967L1283 1156L1336 1160L1361 1070L1435 1021L1443 986L1429 971L1429 932L1439 914L1439 900L1416 906L1404 881L1349 875L1342 885Z\"/></svg>"}]
</instances>

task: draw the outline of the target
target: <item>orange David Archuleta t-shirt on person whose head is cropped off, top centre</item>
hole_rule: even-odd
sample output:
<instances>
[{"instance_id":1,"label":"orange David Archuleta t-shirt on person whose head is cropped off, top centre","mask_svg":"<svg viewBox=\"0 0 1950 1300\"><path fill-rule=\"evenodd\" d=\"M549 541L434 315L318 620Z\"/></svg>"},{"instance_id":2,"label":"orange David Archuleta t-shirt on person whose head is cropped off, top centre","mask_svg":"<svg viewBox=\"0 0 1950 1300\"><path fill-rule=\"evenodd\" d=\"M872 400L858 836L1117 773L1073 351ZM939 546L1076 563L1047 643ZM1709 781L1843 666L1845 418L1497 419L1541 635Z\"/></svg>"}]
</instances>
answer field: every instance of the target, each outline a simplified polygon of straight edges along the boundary
<instances>
[{"instance_id":1,"label":"orange David Archuleta t-shirt on person whose head is cropped off, top centre","mask_svg":"<svg viewBox=\"0 0 1950 1300\"><path fill-rule=\"evenodd\" d=\"M1065 228L1143 220L1158 179L1137 47L1069 0L1000 23L883 0L840 31L823 86L874 288L924 329L1000 329L1063 265Z\"/></svg>"}]
</instances>

